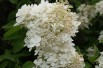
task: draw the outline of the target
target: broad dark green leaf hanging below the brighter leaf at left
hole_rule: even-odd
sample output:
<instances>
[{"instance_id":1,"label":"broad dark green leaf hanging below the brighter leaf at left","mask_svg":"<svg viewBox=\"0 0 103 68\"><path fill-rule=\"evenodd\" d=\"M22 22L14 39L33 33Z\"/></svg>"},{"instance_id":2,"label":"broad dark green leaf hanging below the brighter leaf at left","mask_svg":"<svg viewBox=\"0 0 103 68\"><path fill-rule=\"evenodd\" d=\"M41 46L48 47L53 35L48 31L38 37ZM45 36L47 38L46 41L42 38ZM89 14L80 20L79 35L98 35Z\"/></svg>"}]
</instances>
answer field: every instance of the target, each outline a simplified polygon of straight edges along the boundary
<instances>
[{"instance_id":1,"label":"broad dark green leaf hanging below the brighter leaf at left","mask_svg":"<svg viewBox=\"0 0 103 68\"><path fill-rule=\"evenodd\" d=\"M26 30L21 29L16 35L17 38L12 40L13 51L15 53L19 52L22 48L24 48L24 38L25 38Z\"/></svg>"}]
</instances>

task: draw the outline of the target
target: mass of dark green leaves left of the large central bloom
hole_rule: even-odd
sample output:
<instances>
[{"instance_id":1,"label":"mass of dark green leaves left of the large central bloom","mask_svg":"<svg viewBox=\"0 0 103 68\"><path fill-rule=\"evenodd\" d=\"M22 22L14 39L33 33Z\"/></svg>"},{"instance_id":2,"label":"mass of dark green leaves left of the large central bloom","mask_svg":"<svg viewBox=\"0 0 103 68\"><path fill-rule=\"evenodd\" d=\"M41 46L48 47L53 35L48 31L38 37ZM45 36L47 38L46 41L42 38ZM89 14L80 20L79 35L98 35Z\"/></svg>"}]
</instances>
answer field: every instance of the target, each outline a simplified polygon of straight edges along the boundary
<instances>
[{"instance_id":1,"label":"mass of dark green leaves left of the large central bloom","mask_svg":"<svg viewBox=\"0 0 103 68\"><path fill-rule=\"evenodd\" d=\"M0 21L2 35L0 36L0 68L32 68L35 59L34 52L24 47L26 29L13 26L16 23L16 12L23 4L39 3L40 0L1 0L5 12L5 21ZM4 3L4 4L3 4ZM10 7L11 9L9 9ZM1 8L1 7L0 7ZM1 11L0 11L1 12ZM0 17L1 18L1 17ZM3 24L5 23L5 24Z\"/></svg>"}]
</instances>

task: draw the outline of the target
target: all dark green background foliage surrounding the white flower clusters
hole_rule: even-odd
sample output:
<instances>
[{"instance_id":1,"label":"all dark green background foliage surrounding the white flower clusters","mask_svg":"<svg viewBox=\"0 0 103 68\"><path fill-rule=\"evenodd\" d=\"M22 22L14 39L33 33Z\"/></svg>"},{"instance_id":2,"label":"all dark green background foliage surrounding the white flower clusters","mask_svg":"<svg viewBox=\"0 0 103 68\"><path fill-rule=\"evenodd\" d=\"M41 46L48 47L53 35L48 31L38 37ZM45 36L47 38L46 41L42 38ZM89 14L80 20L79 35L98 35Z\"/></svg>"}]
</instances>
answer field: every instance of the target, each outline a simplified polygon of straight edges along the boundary
<instances>
[{"instance_id":1,"label":"all dark green background foliage surrounding the white flower clusters","mask_svg":"<svg viewBox=\"0 0 103 68\"><path fill-rule=\"evenodd\" d=\"M76 11L80 4L95 4L99 0L69 0ZM36 59L33 50L24 47L26 29L16 26L16 12L23 4L38 4L40 0L0 0L0 68L32 68ZM49 0L55 2L55 0ZM94 68L103 44L98 41L99 33L103 30L103 17L99 14L92 21L89 29L79 29L74 39L75 48L85 58L86 67ZM93 56L88 56L87 49L94 48ZM34 49L35 50L35 49Z\"/></svg>"}]
</instances>

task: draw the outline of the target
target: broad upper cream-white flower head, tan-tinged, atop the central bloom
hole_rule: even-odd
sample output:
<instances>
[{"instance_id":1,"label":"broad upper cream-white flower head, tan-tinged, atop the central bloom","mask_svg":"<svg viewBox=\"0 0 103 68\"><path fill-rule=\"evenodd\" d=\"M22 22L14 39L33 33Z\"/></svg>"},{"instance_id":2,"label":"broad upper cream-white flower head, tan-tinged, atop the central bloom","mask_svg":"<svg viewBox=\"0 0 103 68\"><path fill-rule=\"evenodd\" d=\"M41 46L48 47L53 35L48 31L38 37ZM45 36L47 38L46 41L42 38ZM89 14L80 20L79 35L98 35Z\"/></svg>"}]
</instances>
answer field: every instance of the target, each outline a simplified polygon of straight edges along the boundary
<instances>
[{"instance_id":1,"label":"broad upper cream-white flower head, tan-tinged, atop the central bloom","mask_svg":"<svg viewBox=\"0 0 103 68\"><path fill-rule=\"evenodd\" d=\"M15 25L23 24L28 29L38 27L43 31L48 29L55 33L68 32L70 36L74 36L78 32L77 29L80 25L80 22L77 21L78 16L76 13L70 12L68 5L47 1L43 1L39 5L23 5L16 16Z\"/></svg>"}]
</instances>

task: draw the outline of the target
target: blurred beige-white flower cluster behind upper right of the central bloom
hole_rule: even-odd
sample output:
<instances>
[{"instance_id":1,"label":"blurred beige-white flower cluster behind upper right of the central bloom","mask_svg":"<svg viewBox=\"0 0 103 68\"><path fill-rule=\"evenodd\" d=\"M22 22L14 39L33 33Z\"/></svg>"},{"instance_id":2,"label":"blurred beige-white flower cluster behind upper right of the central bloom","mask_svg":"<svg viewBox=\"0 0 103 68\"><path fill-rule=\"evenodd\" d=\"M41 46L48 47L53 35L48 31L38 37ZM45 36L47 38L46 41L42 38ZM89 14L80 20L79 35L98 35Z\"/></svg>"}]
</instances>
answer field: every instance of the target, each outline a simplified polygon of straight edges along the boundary
<instances>
[{"instance_id":1,"label":"blurred beige-white flower cluster behind upper right of the central bloom","mask_svg":"<svg viewBox=\"0 0 103 68\"><path fill-rule=\"evenodd\" d=\"M96 9L94 5L81 4L78 9L79 21L81 22L80 28L89 28L90 21L96 16Z\"/></svg>"}]
</instances>

